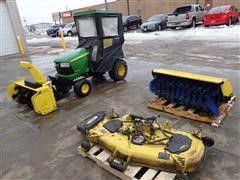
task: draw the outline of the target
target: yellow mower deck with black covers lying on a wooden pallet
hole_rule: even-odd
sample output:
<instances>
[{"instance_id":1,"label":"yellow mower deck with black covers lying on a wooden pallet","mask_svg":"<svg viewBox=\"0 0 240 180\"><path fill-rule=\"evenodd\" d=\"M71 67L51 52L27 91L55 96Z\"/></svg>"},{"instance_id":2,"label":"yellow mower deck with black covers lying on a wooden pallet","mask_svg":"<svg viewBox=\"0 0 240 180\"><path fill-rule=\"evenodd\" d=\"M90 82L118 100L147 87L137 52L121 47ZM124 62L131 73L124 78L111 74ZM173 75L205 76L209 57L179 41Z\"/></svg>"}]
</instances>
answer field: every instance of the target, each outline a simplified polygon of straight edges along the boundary
<instances>
[{"instance_id":1,"label":"yellow mower deck with black covers lying on a wooden pallet","mask_svg":"<svg viewBox=\"0 0 240 180\"><path fill-rule=\"evenodd\" d=\"M84 136L81 149L85 152L97 144L112 152L108 163L125 171L128 165L141 165L179 174L201 167L206 147L214 140L201 131L187 133L160 125L158 117L143 118L133 114L119 117L115 113L97 112L77 125ZM117 161L116 161L117 160Z\"/></svg>"}]
</instances>

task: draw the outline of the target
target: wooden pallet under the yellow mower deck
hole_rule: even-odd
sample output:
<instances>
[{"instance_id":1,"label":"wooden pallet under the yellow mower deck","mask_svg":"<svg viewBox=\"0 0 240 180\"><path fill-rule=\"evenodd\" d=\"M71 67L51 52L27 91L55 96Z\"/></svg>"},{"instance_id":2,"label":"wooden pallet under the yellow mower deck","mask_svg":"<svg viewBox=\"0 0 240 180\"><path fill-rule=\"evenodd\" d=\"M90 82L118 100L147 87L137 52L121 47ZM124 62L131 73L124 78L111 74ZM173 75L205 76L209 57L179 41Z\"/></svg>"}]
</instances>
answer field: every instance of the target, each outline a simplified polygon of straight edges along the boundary
<instances>
[{"instance_id":1,"label":"wooden pallet under the yellow mower deck","mask_svg":"<svg viewBox=\"0 0 240 180\"><path fill-rule=\"evenodd\" d=\"M175 173L158 171L143 166L128 166L124 172L120 172L111 168L107 162L111 152L102 149L98 145L93 145L88 152L82 151L81 146L79 146L78 152L81 156L90 158L98 166L124 180L174 180L176 176Z\"/></svg>"}]
</instances>

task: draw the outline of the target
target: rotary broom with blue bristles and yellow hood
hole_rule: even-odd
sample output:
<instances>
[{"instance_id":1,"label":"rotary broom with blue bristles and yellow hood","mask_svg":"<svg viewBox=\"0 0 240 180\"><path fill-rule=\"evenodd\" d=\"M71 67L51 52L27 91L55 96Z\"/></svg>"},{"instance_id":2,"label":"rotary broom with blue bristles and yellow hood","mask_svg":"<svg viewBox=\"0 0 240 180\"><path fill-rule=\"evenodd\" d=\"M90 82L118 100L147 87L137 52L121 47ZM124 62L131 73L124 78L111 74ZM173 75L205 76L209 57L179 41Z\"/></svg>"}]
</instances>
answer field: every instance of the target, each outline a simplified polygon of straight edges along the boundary
<instances>
[{"instance_id":1,"label":"rotary broom with blue bristles and yellow hood","mask_svg":"<svg viewBox=\"0 0 240 180\"><path fill-rule=\"evenodd\" d=\"M170 102L219 115L219 106L232 97L230 80L170 69L154 69L150 91Z\"/></svg>"}]
</instances>

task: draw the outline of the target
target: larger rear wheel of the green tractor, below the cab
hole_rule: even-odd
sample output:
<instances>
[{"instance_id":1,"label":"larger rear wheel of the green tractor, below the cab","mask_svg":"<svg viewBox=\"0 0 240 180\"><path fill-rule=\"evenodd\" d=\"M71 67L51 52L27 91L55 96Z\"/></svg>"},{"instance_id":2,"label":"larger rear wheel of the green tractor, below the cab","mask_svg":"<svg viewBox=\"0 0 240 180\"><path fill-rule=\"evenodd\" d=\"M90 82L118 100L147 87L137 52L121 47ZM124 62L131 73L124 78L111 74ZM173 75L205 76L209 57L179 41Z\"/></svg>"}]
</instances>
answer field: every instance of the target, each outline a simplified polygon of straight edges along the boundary
<instances>
[{"instance_id":1,"label":"larger rear wheel of the green tractor, below the cab","mask_svg":"<svg viewBox=\"0 0 240 180\"><path fill-rule=\"evenodd\" d=\"M124 80L127 76L128 66L126 61L123 59L117 59L112 67L112 70L109 71L109 76L114 81Z\"/></svg>"}]
</instances>

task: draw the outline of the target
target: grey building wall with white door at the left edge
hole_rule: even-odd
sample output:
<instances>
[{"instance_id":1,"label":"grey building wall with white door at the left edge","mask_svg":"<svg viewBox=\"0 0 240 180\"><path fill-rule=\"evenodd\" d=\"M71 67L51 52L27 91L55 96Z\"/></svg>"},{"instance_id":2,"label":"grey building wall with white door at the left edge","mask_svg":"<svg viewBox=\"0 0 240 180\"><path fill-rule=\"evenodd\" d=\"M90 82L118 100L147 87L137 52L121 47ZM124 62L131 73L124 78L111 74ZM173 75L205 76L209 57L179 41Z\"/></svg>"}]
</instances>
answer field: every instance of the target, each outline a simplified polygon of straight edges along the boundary
<instances>
[{"instance_id":1,"label":"grey building wall with white door at the left edge","mask_svg":"<svg viewBox=\"0 0 240 180\"><path fill-rule=\"evenodd\" d=\"M19 53L18 39L27 49L16 0L0 0L0 56Z\"/></svg>"}]
</instances>

